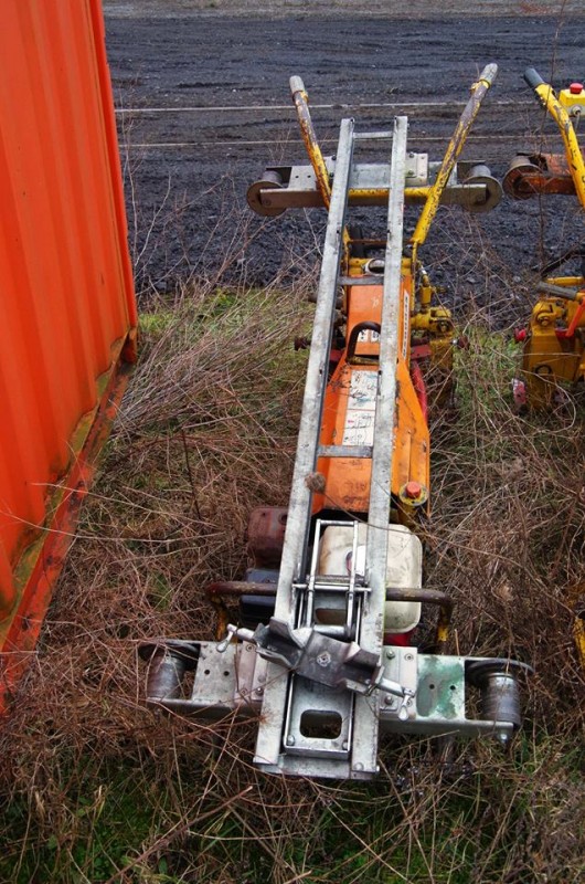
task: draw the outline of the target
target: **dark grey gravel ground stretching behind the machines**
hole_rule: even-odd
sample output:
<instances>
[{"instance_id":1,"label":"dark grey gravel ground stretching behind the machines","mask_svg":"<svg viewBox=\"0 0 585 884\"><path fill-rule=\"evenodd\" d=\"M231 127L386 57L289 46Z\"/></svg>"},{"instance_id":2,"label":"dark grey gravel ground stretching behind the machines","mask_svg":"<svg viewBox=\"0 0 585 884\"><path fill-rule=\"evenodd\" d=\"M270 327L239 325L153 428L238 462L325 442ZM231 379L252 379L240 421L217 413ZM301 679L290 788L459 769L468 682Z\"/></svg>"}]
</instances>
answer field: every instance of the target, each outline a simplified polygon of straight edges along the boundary
<instances>
[{"instance_id":1,"label":"dark grey gravel ground stretching behind the machines","mask_svg":"<svg viewBox=\"0 0 585 884\"><path fill-rule=\"evenodd\" d=\"M559 87L583 76L582 4L541 14L556 6L483 2L470 15L462 2L418 2L413 17L440 9L440 18L405 20L389 14L392 3L366 3L357 14L348 3L275 2L262 14L255 3L106 2L139 287L169 291L191 274L219 273L264 285L283 269L295 277L315 265L322 213L267 222L245 202L266 162L304 159L288 93L295 73L326 152L334 152L343 116L377 129L407 113L410 147L440 158L470 83L490 61L500 73L464 156L487 160L501 177L517 150L543 141L561 149L522 80L529 64ZM382 221L362 218L372 231ZM554 252L582 228L575 201L561 198L544 208L504 199L489 215L445 209L438 221L424 254L455 303L486 303L479 290L488 272L492 287L508 292L543 242ZM507 317L506 308L491 313L496 324Z\"/></svg>"}]
</instances>

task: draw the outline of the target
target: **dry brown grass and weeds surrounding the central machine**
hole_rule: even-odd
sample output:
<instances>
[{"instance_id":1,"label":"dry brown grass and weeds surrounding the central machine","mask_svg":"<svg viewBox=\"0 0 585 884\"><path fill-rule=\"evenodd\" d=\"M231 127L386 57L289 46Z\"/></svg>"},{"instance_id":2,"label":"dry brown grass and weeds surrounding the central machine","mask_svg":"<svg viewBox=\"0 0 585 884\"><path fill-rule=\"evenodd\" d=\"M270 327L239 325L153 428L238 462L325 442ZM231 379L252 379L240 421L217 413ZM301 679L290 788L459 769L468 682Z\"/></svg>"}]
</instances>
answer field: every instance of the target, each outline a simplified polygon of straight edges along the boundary
<instances>
[{"instance_id":1,"label":"dry brown grass and weeds surrounding the central machine","mask_svg":"<svg viewBox=\"0 0 585 884\"><path fill-rule=\"evenodd\" d=\"M280 780L252 768L249 725L143 707L138 642L211 638L202 587L242 575L249 509L287 502L305 295L210 283L150 304L141 362L1 736L1 880L583 880L584 676L567 606L585 581L583 412L570 401L547 419L515 417L517 356L481 314L458 358L459 414L434 418L426 582L456 598L462 653L535 666L512 753L461 744L445 767L427 741L394 739L376 783Z\"/></svg>"}]
</instances>

